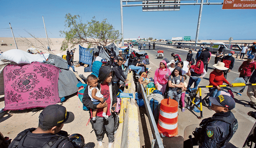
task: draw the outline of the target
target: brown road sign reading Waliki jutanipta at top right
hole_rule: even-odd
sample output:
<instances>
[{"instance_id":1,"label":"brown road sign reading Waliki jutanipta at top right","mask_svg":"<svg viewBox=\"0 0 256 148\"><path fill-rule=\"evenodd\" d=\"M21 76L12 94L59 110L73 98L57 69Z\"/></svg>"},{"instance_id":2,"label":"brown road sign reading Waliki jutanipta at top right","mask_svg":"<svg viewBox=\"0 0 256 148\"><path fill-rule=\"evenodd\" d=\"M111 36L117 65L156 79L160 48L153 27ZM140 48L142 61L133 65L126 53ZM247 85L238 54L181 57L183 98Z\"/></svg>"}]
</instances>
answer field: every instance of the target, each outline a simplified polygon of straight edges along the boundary
<instances>
[{"instance_id":1,"label":"brown road sign reading Waliki jutanipta at top right","mask_svg":"<svg viewBox=\"0 0 256 148\"><path fill-rule=\"evenodd\" d=\"M222 9L256 9L256 0L224 0Z\"/></svg>"}]
</instances>

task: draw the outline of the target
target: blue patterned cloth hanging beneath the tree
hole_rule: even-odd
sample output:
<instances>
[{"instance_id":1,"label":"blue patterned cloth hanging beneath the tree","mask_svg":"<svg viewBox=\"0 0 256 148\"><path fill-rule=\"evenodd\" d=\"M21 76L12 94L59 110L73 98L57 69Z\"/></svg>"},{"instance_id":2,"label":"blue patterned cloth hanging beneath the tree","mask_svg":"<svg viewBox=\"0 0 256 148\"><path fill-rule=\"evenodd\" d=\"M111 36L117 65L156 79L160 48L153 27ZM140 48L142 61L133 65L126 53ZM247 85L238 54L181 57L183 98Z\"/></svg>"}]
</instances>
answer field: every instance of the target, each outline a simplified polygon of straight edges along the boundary
<instances>
[{"instance_id":1,"label":"blue patterned cloth hanging beneath the tree","mask_svg":"<svg viewBox=\"0 0 256 148\"><path fill-rule=\"evenodd\" d=\"M79 62L92 65L93 48L84 48L79 45Z\"/></svg>"}]
</instances>

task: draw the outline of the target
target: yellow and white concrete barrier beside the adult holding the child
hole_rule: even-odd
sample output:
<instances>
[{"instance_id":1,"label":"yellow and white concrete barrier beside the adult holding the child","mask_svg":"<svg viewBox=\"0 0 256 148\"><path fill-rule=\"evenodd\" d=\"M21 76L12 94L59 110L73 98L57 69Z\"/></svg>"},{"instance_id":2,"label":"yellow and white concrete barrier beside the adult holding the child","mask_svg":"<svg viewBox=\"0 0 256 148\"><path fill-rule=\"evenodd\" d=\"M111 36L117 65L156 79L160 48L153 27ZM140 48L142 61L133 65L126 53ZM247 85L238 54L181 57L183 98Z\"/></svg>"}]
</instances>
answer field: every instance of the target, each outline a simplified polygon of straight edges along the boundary
<instances>
[{"instance_id":1,"label":"yellow and white concrete barrier beside the adult holding the child","mask_svg":"<svg viewBox=\"0 0 256 148\"><path fill-rule=\"evenodd\" d=\"M138 107L135 101L135 83L133 73L128 73L128 89L124 93L132 93L133 98L121 98L119 127L115 134L114 148L140 148Z\"/></svg>"}]
</instances>

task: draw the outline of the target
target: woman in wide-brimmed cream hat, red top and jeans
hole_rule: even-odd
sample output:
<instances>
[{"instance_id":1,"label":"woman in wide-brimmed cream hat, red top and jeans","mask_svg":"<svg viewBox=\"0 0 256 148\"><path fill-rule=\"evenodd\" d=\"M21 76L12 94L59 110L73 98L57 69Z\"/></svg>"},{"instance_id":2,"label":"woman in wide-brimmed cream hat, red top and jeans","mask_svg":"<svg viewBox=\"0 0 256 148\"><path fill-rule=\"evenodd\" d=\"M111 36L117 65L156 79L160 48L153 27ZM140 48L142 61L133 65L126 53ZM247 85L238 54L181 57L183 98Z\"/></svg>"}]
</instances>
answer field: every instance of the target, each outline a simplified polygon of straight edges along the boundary
<instances>
[{"instance_id":1,"label":"woman in wide-brimmed cream hat, red top and jeans","mask_svg":"<svg viewBox=\"0 0 256 148\"><path fill-rule=\"evenodd\" d=\"M214 64L212 65L212 67L215 67L215 69L210 73L210 77L209 77L209 85L212 85L212 88L209 88L209 92L211 93L213 91L213 93L209 96L209 97L217 97L220 95L220 86L219 85L223 85L223 81L225 83L227 83L229 86L233 86L231 83L229 83L224 75L223 75L223 70L227 70L228 68L225 67L225 64L223 62L219 62L218 64ZM216 87L216 88L215 88ZM210 111L212 111L211 106L212 103L209 100L209 98L207 99L208 101L208 109Z\"/></svg>"}]
</instances>

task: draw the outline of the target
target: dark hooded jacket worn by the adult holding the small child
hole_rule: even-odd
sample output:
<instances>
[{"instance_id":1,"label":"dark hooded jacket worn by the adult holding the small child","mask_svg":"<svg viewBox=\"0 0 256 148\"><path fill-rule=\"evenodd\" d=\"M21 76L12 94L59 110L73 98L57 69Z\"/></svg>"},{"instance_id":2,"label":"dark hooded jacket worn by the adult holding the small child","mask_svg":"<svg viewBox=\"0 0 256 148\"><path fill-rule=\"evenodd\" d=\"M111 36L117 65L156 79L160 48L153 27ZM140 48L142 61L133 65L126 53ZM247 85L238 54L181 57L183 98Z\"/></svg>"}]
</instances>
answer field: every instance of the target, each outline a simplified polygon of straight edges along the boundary
<instances>
[{"instance_id":1,"label":"dark hooded jacket worn by the adult holding the small child","mask_svg":"<svg viewBox=\"0 0 256 148\"><path fill-rule=\"evenodd\" d=\"M103 83L105 81L105 79L108 77L109 73L112 72L112 75L115 74L114 70L113 69L110 69L109 67L107 66L102 66L100 67L100 70L99 70L99 76L98 76L98 88L100 89L100 83ZM108 83L108 86L109 86L109 93L110 93L110 101L111 101L111 107L114 103L117 103L116 101L116 90L115 90L115 87L110 83ZM101 91L101 89L100 89ZM91 101L91 98L89 97L89 94L88 94L88 85L86 86L85 90L84 90L84 97L82 99L82 102L84 104L84 106L94 110L94 109L97 109L97 105L94 105ZM109 110L111 110L111 107Z\"/></svg>"}]
</instances>

